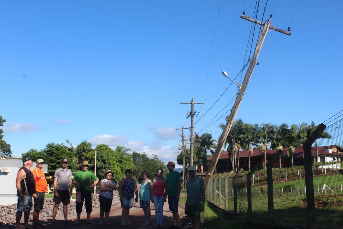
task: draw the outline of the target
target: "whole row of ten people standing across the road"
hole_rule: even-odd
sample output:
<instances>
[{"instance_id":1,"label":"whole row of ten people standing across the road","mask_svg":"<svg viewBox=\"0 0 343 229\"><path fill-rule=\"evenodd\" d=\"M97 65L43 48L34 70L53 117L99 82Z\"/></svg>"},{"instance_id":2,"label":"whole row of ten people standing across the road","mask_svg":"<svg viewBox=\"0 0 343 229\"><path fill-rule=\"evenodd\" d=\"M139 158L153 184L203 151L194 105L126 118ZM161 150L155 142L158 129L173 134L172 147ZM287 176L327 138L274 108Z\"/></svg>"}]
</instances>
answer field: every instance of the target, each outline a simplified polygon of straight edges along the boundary
<instances>
[{"instance_id":1,"label":"whole row of ten people standing across the road","mask_svg":"<svg viewBox=\"0 0 343 229\"><path fill-rule=\"evenodd\" d=\"M51 226L55 226L55 218L60 203L63 204L64 224L71 225L68 220L68 204L72 196L72 185L76 186L76 216L74 225L80 224L80 216L83 203L85 203L87 222L95 224L91 220L92 212L92 191L98 184L99 179L94 173L88 170L90 164L83 161L80 171L72 176L68 169L68 159L61 160L61 168L54 174L54 208L52 211ZM43 210L45 192L48 191L47 181L43 172L44 160L36 161L36 168L31 172L33 165L32 158L23 158L23 167L19 169L16 178L16 187L18 193L16 229L32 227L28 225L29 212L32 209L32 199L34 199L33 228L42 228L44 225L39 223L39 212ZM132 225L129 221L130 208L133 201L138 202L144 211L145 220L142 225L150 225L151 209L150 202L154 204L156 224L155 227L163 227L163 206L168 199L169 210L173 213L173 227L179 227L178 205L181 191L180 173L174 171L175 163L170 161L167 164L169 173L166 179L163 178L163 169L157 169L156 178L151 181L148 179L148 172L141 174L141 185L138 192L137 183L132 178L132 171L125 171L125 178L121 179L118 185L120 198L121 225ZM201 178L195 176L195 168L189 167L190 179L187 181L187 201L185 213L192 218L194 228L200 228L200 211L204 210L205 186ZM107 170L104 173L105 179L99 184L99 203L100 203L100 223L110 225L108 221L109 212L112 206L113 191L117 189L117 184L113 180L114 172ZM135 198L134 198L135 194ZM24 227L21 227L20 221L24 212ZM105 216L105 220L104 220Z\"/></svg>"}]
</instances>

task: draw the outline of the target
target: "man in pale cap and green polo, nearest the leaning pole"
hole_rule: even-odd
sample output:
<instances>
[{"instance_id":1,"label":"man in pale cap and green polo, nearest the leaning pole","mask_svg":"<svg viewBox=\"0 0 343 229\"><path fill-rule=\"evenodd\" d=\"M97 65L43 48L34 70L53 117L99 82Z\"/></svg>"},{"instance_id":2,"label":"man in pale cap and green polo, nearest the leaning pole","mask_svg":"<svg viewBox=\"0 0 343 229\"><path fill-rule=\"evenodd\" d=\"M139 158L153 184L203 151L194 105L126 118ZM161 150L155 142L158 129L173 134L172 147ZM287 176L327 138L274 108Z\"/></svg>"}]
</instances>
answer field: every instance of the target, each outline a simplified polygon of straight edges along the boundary
<instances>
[{"instance_id":1,"label":"man in pale cap and green polo, nearest the leaning pole","mask_svg":"<svg viewBox=\"0 0 343 229\"><path fill-rule=\"evenodd\" d=\"M187 199L185 214L192 218L194 229L200 229L200 211L205 208L204 180L195 175L193 166L188 168L190 179L187 181Z\"/></svg>"}]
</instances>

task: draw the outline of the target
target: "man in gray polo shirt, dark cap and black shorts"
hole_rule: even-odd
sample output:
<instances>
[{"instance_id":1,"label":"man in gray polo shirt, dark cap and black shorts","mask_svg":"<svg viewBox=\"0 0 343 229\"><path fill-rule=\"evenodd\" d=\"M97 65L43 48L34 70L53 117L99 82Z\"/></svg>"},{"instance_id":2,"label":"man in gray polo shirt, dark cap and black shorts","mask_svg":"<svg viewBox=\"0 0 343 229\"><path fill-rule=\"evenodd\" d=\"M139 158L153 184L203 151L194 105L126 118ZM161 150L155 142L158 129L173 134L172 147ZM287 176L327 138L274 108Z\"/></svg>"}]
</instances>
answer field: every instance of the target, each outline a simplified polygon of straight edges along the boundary
<instances>
[{"instance_id":1,"label":"man in gray polo shirt, dark cap and black shorts","mask_svg":"<svg viewBox=\"0 0 343 229\"><path fill-rule=\"evenodd\" d=\"M71 171L67 169L68 159L62 159L62 166L56 170L54 175L54 209L52 210L51 226L55 226L55 217L57 214L58 206L63 203L64 224L71 225L68 221L68 204L70 204L70 196L73 194L73 186L71 183Z\"/></svg>"}]
</instances>

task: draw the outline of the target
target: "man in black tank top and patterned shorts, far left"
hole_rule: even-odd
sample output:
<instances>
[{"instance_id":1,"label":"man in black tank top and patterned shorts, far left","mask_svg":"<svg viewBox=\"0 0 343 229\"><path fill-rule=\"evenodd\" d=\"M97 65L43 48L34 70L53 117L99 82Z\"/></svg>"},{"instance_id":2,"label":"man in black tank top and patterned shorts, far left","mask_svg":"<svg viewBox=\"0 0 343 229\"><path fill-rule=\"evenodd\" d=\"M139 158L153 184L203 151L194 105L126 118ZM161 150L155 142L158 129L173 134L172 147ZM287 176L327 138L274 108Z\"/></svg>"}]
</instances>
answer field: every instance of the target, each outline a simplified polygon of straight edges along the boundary
<instances>
[{"instance_id":1,"label":"man in black tank top and patterned shorts, far left","mask_svg":"<svg viewBox=\"0 0 343 229\"><path fill-rule=\"evenodd\" d=\"M19 169L16 179L18 203L16 214L16 229L23 228L20 226L20 220L24 212L24 228L29 228L28 218L32 208L32 197L36 198L36 182L30 170L32 159L30 157L23 158L24 166Z\"/></svg>"}]
</instances>

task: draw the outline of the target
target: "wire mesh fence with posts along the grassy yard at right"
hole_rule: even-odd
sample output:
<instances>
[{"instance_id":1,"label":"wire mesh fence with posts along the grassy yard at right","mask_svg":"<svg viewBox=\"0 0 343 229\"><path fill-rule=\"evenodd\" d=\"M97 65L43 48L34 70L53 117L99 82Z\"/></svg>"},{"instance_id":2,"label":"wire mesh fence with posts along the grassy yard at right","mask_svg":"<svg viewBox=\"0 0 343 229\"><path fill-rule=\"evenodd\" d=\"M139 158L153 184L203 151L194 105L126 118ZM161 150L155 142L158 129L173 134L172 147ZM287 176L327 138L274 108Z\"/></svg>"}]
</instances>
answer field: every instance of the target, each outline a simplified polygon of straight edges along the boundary
<instances>
[{"instance_id":1,"label":"wire mesh fence with posts along the grassy yard at right","mask_svg":"<svg viewBox=\"0 0 343 229\"><path fill-rule=\"evenodd\" d=\"M206 198L251 222L308 228L342 227L343 156L333 152L331 159L326 156L328 161L313 163L314 157L318 156L319 160L323 152L312 155L311 150L311 147L321 146L329 146L324 150L332 146L341 148L342 127L343 119L326 128L324 124L318 126L304 144L305 166L272 169L272 164L282 153L279 150L267 162L267 172L258 170L263 168L260 164L248 173L241 169L236 174L213 176ZM317 139L324 129L331 139ZM317 145L312 146L315 140Z\"/></svg>"}]
</instances>

